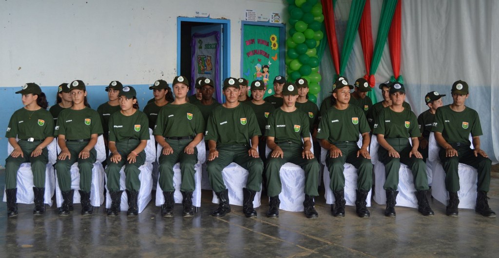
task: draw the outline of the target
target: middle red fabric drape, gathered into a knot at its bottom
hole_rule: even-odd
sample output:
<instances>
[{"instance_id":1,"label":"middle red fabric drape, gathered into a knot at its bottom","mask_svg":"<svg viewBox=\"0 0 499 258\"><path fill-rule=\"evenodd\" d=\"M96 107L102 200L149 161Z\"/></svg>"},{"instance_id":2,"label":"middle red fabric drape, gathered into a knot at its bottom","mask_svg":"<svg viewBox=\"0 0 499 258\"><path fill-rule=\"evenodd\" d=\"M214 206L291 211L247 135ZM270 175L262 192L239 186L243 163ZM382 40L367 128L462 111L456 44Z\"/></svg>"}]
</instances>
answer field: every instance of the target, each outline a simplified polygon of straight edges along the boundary
<instances>
[{"instance_id":1,"label":"middle red fabric drape, gathered into a knot at its bottom","mask_svg":"<svg viewBox=\"0 0 499 258\"><path fill-rule=\"evenodd\" d=\"M371 31L371 0L366 0L359 24L359 36L360 43L362 44L362 52L364 54L364 64L366 66L364 78L369 81L371 87L374 87L376 82L374 75L369 76L373 57L373 36Z\"/></svg>"}]
</instances>

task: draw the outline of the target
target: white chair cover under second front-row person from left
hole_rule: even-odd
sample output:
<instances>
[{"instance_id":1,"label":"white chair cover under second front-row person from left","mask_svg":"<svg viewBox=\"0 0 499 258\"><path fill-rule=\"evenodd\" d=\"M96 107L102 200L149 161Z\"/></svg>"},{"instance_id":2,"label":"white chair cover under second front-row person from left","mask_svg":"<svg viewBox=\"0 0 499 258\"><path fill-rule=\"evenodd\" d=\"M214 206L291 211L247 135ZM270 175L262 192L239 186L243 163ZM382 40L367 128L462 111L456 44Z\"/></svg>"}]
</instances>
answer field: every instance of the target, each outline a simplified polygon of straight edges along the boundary
<instances>
[{"instance_id":1,"label":"white chair cover under second front-row person from left","mask_svg":"<svg viewBox=\"0 0 499 258\"><path fill-rule=\"evenodd\" d=\"M104 137L100 135L95 144L95 151L97 152L96 161L92 169L92 186L90 188L90 204L92 206L100 206L104 203L104 167L102 162L106 159L106 148L104 146ZM60 148L57 145L57 152ZM78 162L75 162L70 169L71 172L71 189L74 189L73 203L80 203L80 172L78 169ZM59 188L57 177L55 177L55 200L57 207L62 206L62 193Z\"/></svg>"}]
</instances>

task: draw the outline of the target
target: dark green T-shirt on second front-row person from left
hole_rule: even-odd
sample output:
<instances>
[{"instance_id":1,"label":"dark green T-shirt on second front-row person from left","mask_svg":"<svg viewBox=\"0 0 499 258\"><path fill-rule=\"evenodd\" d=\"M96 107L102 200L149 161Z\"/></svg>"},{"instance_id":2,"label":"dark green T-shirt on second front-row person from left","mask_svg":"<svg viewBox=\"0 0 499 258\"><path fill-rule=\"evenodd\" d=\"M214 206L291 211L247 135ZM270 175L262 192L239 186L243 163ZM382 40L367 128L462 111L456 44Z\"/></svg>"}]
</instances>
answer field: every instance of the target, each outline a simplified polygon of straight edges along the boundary
<instances>
[{"instance_id":1,"label":"dark green T-shirt on second front-row person from left","mask_svg":"<svg viewBox=\"0 0 499 258\"><path fill-rule=\"evenodd\" d=\"M81 110L66 108L57 119L54 136L65 135L66 140L89 139L92 134L102 134L102 124L97 111L85 107Z\"/></svg>"}]
</instances>

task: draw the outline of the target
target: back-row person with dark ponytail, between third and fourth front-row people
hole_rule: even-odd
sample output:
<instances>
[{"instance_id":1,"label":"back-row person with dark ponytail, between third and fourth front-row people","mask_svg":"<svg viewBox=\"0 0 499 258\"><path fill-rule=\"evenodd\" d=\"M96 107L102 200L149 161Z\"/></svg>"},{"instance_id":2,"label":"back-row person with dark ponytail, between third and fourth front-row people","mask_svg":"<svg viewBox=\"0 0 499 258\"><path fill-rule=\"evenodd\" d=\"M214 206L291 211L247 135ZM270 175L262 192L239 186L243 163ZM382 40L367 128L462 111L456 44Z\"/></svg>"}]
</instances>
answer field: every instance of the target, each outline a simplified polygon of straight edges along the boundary
<instances>
[{"instance_id":1,"label":"back-row person with dark ponytail, between third and fourth front-row people","mask_svg":"<svg viewBox=\"0 0 499 258\"><path fill-rule=\"evenodd\" d=\"M149 89L153 90L154 102L148 103L144 107L144 113L149 120L149 128L154 129L159 111L173 101L173 94L170 85L164 80L155 81Z\"/></svg>"}]
</instances>

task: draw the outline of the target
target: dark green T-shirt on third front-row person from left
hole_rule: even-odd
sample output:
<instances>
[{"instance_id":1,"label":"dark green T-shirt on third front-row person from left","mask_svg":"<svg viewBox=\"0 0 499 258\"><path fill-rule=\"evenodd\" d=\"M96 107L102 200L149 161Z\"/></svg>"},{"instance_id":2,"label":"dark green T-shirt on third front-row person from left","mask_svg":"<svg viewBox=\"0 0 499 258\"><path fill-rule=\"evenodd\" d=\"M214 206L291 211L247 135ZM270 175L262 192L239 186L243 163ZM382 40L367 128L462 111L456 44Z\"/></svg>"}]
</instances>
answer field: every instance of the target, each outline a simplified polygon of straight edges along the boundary
<instances>
[{"instance_id":1,"label":"dark green T-shirt on third front-row person from left","mask_svg":"<svg viewBox=\"0 0 499 258\"><path fill-rule=\"evenodd\" d=\"M137 110L131 116L115 112L109 117L109 141L121 142L130 139L149 140L147 116Z\"/></svg>"}]
</instances>

